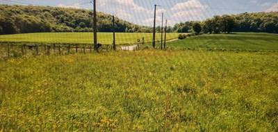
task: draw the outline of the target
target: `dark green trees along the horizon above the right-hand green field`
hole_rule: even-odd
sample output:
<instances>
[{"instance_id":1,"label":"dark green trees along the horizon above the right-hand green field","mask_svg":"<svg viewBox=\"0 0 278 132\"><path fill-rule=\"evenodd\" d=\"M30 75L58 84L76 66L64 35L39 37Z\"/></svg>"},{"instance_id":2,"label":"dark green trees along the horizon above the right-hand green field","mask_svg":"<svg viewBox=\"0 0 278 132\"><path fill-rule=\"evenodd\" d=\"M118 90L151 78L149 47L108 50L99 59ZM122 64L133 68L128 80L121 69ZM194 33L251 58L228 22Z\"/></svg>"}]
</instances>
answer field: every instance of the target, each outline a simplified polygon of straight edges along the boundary
<instances>
[{"instance_id":1,"label":"dark green trees along the horizon above the right-hand green field","mask_svg":"<svg viewBox=\"0 0 278 132\"><path fill-rule=\"evenodd\" d=\"M171 31L177 33L231 33L232 31L278 33L278 12L214 16L204 22L175 24Z\"/></svg>"}]
</instances>

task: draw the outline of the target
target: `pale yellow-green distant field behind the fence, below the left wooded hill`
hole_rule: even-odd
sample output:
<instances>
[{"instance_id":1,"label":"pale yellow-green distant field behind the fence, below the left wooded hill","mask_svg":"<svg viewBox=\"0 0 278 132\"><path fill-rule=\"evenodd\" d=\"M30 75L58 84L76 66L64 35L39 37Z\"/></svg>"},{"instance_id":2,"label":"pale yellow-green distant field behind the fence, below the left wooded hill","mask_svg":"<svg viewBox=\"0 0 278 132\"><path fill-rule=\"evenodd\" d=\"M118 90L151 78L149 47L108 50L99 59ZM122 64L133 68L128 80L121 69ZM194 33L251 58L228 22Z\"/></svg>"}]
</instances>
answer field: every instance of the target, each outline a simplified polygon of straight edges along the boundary
<instances>
[{"instance_id":1,"label":"pale yellow-green distant field behind the fence, below the left wooded hill","mask_svg":"<svg viewBox=\"0 0 278 132\"><path fill-rule=\"evenodd\" d=\"M178 38L179 33L169 33L167 40ZM15 35L0 35L0 43L33 43L33 44L92 44L92 33L26 33ZM138 39L152 42L152 33L116 33L116 44L134 44ZM157 41L161 34L156 34ZM112 33L98 33L101 44L112 44Z\"/></svg>"}]
</instances>

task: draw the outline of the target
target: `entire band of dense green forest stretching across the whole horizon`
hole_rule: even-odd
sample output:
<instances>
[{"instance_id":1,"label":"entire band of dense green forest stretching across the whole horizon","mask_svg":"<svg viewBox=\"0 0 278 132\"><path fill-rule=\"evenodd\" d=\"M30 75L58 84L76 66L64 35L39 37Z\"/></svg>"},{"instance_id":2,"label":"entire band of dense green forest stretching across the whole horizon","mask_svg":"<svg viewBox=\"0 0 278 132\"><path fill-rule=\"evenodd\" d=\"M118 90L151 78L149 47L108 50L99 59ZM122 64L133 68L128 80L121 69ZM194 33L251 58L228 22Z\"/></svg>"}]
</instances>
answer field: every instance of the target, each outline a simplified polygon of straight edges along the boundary
<instances>
[{"instance_id":1,"label":"entire band of dense green forest stretching across the whole horizon","mask_svg":"<svg viewBox=\"0 0 278 132\"><path fill-rule=\"evenodd\" d=\"M97 30L111 32L112 16L98 13ZM156 27L156 31L160 31ZM139 26L115 18L116 32L152 32L148 26ZM278 33L278 12L242 13L214 16L203 22L181 22L167 28L177 33L231 33L267 32ZM92 11L49 6L0 5L0 34L38 32L92 32Z\"/></svg>"}]
</instances>

